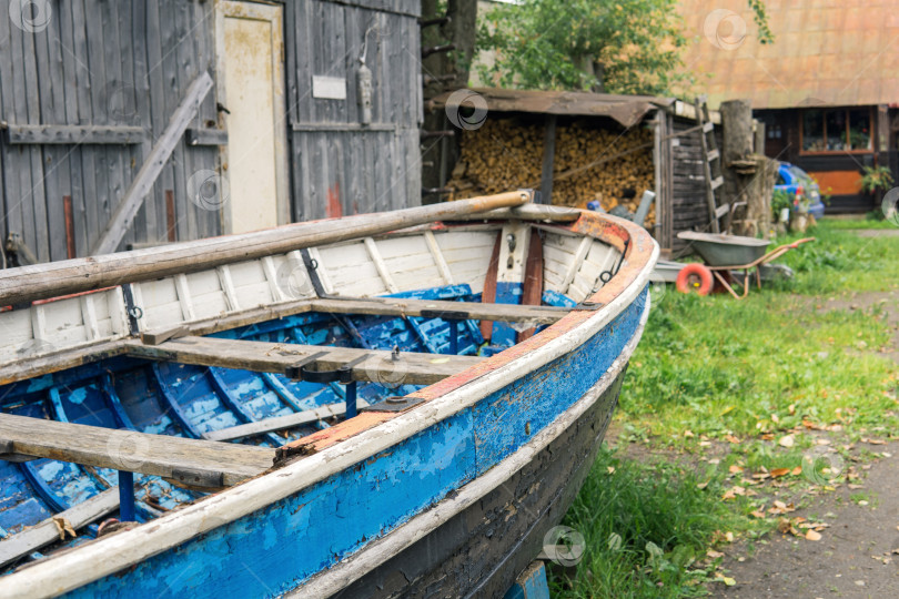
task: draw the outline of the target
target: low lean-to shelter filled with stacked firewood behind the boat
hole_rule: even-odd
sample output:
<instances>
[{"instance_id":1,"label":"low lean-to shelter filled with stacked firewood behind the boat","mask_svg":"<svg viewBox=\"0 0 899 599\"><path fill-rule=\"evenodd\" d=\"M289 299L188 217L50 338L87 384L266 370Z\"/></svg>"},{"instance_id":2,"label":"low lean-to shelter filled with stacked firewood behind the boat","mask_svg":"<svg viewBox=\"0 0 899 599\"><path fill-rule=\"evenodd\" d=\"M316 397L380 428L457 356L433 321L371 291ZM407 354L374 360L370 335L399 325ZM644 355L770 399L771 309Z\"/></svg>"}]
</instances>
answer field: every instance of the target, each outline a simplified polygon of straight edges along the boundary
<instances>
[{"instance_id":1,"label":"low lean-to shelter filled with stacked firewood behind the boat","mask_svg":"<svg viewBox=\"0 0 899 599\"><path fill-rule=\"evenodd\" d=\"M678 248L677 233L708 230L701 129L691 104L669 98L476 89L484 119L457 130L441 152L441 186L451 197L536 187L542 201L605 211L636 212L644 191L656 199L647 230L663 250ZM428 110L466 110L452 93ZM459 98L456 95L455 98ZM474 108L474 101L469 110ZM713 112L713 125L720 115Z\"/></svg>"}]
</instances>

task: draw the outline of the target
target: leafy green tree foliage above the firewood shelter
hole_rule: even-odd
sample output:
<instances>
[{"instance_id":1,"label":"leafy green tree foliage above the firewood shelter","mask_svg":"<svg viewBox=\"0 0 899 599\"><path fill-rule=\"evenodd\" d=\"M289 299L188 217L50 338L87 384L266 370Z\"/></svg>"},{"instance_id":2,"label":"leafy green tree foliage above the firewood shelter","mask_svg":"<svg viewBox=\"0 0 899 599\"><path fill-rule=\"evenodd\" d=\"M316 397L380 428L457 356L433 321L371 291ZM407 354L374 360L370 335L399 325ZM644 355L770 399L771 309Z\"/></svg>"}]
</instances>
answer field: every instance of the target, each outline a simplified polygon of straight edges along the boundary
<instances>
[{"instance_id":1,"label":"leafy green tree foliage above the firewood shelter","mask_svg":"<svg viewBox=\"0 0 899 599\"><path fill-rule=\"evenodd\" d=\"M585 90L598 65L609 93L666 93L688 79L681 30L676 0L501 4L478 31L478 49L497 51L481 75L508 88Z\"/></svg>"}]
</instances>

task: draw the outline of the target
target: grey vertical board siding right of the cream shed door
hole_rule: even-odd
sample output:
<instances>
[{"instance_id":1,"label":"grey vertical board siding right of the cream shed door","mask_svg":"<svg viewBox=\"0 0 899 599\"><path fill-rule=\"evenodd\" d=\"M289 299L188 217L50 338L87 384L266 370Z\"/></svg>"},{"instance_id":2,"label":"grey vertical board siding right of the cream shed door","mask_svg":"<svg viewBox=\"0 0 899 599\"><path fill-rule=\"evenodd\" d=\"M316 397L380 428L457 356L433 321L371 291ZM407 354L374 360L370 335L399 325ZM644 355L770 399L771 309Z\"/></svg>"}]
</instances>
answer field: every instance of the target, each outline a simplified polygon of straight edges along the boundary
<instances>
[{"instance_id":1,"label":"grey vertical board siding right of the cream shed door","mask_svg":"<svg viewBox=\"0 0 899 599\"><path fill-rule=\"evenodd\" d=\"M293 219L421 204L422 120L417 0L285 4ZM367 32L371 125L362 125L357 70ZM312 97L313 75L344 78L346 100Z\"/></svg>"}]
</instances>

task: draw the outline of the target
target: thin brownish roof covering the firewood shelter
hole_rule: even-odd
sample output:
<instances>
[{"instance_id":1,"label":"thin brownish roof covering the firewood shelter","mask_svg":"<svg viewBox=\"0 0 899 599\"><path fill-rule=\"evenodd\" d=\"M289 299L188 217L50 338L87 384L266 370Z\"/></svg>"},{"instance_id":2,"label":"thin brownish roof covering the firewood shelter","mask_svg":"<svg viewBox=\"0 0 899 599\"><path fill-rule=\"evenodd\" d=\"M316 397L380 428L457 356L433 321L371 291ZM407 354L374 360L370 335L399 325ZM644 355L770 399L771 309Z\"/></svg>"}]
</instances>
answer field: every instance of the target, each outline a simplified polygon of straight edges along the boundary
<instances>
[{"instance_id":1,"label":"thin brownish roof covering the firewood shelter","mask_svg":"<svg viewBox=\"0 0 899 599\"><path fill-rule=\"evenodd\" d=\"M614 95L608 93L562 92L535 90L471 90L487 101L496 112L532 112L542 114L608 116L623 126L640 122L647 112L674 103L670 98L651 95ZM442 93L428 102L430 109L443 109L453 92Z\"/></svg>"}]
</instances>

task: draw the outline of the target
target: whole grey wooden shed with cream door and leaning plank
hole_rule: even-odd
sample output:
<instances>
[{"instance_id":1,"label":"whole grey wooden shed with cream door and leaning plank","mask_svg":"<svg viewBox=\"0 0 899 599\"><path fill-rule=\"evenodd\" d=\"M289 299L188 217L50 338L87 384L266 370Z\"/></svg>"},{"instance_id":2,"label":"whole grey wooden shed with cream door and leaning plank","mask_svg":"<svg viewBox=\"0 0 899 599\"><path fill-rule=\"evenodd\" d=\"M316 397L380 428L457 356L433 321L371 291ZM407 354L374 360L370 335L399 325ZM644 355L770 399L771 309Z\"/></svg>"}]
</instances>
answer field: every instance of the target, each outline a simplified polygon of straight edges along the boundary
<instances>
[{"instance_id":1,"label":"whole grey wooden shed with cream door and leaning plank","mask_svg":"<svg viewBox=\"0 0 899 599\"><path fill-rule=\"evenodd\" d=\"M420 204L418 13L0 0L10 262Z\"/></svg>"}]
</instances>

